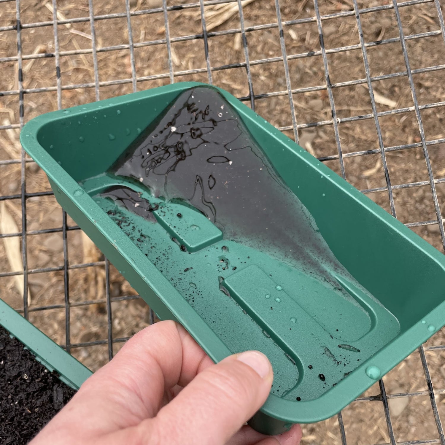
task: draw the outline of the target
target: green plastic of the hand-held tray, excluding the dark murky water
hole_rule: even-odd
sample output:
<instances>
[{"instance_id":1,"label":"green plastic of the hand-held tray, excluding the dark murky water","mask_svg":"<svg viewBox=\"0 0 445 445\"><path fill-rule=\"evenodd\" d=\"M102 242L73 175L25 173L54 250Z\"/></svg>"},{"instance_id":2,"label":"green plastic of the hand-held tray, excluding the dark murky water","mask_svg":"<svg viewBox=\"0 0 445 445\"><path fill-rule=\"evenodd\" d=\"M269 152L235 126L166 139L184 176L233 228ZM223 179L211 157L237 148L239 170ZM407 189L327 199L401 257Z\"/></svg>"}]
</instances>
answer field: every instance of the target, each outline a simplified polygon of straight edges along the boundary
<instances>
[{"instance_id":1,"label":"green plastic of the hand-held tray, excluding the dark murky water","mask_svg":"<svg viewBox=\"0 0 445 445\"><path fill-rule=\"evenodd\" d=\"M118 209L106 190L130 183L106 172L172 101L202 86L178 83L44 114L25 125L20 140L57 201L159 318L178 320L214 361L246 349L267 354L274 385L250 423L279 433L339 412L445 324L445 258L221 89L212 94L230 104L264 162L303 203L326 246L320 258L334 255L348 271L335 278L349 299L271 258L267 243L255 249L224 237L177 202L158 200L158 223ZM142 183L130 186L155 199ZM125 215L121 228L112 219L117 210ZM298 224L281 229L287 239L300 236Z\"/></svg>"}]
</instances>

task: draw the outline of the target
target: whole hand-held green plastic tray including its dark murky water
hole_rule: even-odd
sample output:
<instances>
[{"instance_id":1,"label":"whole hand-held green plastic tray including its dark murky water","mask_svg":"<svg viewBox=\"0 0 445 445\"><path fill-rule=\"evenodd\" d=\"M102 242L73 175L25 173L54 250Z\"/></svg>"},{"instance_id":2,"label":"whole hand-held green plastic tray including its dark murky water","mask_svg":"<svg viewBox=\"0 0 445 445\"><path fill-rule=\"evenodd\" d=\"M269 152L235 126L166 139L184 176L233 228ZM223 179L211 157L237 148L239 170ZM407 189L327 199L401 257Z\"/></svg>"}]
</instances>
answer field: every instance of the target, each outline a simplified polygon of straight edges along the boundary
<instances>
[{"instance_id":1,"label":"whole hand-held green plastic tray including its dark murky water","mask_svg":"<svg viewBox=\"0 0 445 445\"><path fill-rule=\"evenodd\" d=\"M223 90L49 113L21 140L160 318L214 360L269 357L256 429L331 416L444 324L443 255Z\"/></svg>"}]
</instances>

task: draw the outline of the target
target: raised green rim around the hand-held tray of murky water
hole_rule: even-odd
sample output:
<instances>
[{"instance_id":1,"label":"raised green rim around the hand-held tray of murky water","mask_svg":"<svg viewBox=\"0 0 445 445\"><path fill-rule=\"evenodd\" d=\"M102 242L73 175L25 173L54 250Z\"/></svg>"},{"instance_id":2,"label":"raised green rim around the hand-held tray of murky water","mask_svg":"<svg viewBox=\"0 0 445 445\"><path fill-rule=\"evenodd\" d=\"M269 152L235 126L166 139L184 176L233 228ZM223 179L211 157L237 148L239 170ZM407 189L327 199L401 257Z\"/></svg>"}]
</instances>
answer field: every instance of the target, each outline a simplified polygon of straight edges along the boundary
<instances>
[{"instance_id":1,"label":"raised green rim around the hand-held tray of murky water","mask_svg":"<svg viewBox=\"0 0 445 445\"><path fill-rule=\"evenodd\" d=\"M303 150L295 142L287 138L287 136L282 134L269 122L265 121L247 107L247 105L244 105L241 101L221 88L200 82L179 82L86 105L79 105L69 109L70 116L74 117L77 114L97 111L98 108L101 108L103 111L107 106L128 104L132 101L139 101L149 97L162 97L164 93L177 92L179 95L185 89L197 86L205 86L217 90L231 106L235 108L242 119L248 119L252 121L253 124L266 129L278 143L282 144L288 150L291 150L300 160L306 162L309 168L313 168L320 174L325 175L327 180L331 181L333 185L340 187L344 193L348 194L349 198L356 200L361 206L364 206L368 211L374 213L388 228L398 232L407 242L421 250L424 255L429 256L430 259L436 262L445 272L445 255L437 251L437 249L411 231L403 223L396 220L396 218L393 218L392 215L388 214L354 186L332 172L331 169L314 158L306 150ZM74 192L79 190L77 182L40 145L37 140L37 134L40 129L49 122L57 119L65 119L67 116L64 111L65 110L58 110L42 114L24 125L20 134L20 142L24 150L45 171L61 193L69 198L73 204L85 214L89 221L99 229L101 234L113 245L119 255L126 259L133 270L170 310L173 314L172 318L180 322L187 331L190 332L212 360L217 362L230 355L231 352L225 344L223 344L204 320L202 320L194 309L182 298L182 295L179 294L173 285L154 267L150 260L142 254L138 247L133 243L128 243L128 240L125 242L124 237L127 238L126 235L113 223L111 218L105 215L96 202L85 193L80 196L75 196ZM327 177L327 174L330 174L330 176ZM150 279L148 277L150 277ZM165 299L162 295L168 295L168 298ZM261 411L271 417L291 423L312 423L332 417L376 382L376 380L366 375L365 369L368 366L377 365L381 371L380 375L383 376L445 325L445 296L444 301L424 318L428 320L427 324L423 324L421 320L419 320L406 332L391 340L374 356L364 361L358 368L352 371L347 378L341 380L335 387L330 388L320 397L312 401L289 401L270 394ZM427 329L429 325L435 327L432 332ZM401 351L404 352L402 354L403 356L400 357Z\"/></svg>"}]
</instances>

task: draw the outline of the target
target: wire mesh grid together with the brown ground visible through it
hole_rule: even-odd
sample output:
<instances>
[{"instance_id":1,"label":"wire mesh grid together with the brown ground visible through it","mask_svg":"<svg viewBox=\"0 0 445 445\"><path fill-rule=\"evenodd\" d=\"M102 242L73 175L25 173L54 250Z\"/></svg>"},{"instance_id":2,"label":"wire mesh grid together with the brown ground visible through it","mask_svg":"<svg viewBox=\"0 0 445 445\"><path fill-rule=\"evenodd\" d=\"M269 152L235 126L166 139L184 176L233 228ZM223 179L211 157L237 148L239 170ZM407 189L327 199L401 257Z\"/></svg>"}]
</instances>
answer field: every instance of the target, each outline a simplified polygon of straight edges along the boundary
<instances>
[{"instance_id":1,"label":"wire mesh grid together with the brown ground visible through it","mask_svg":"<svg viewBox=\"0 0 445 445\"><path fill-rule=\"evenodd\" d=\"M140 300L138 295L123 284L117 292L113 289L115 281L123 280L119 281L117 271L106 258L88 257L89 261L85 261L84 255L79 260L77 252L82 246L79 238L71 235L80 234L80 228L54 200L50 210L54 207L60 218L54 221L42 216L47 213L49 207L45 205L53 199L53 193L41 181L43 174L32 159L19 150L17 134L25 121L44 111L178 80L217 84L271 120L394 217L437 248L445 249L441 214L441 206L445 205L445 136L438 134L445 116L445 101L440 100L440 80L444 77L431 77L445 69L445 26L439 0L256 0L258 6L249 6L252 1L174 4L167 0L85 0L82 5L73 5L56 0L0 0L0 113L9 116L0 122L0 204L17 222L16 228L8 231L3 225L0 232L5 250L1 253L9 259L9 263L1 263L1 297L81 360L88 353L85 356L78 351L90 347L106 348L102 359L111 359L133 329L154 322L154 314L150 310L142 322L136 316L138 324L122 331L116 323L116 311L128 312L129 303ZM267 13L255 12L262 8ZM48 20L43 20L45 17ZM196 24L194 32L189 32L192 28L184 26L184 20ZM108 27L108 34L104 34L104 27ZM351 37L345 44L332 37L342 32L356 40ZM385 32L389 34L386 38ZM120 35L125 41L119 42ZM73 36L87 43L79 44ZM107 40L113 44L107 46ZM272 42L266 45L268 49L264 40ZM425 41L432 42L432 49L425 50L421 43ZM228 42L231 47L227 49ZM433 53L431 63L413 51L416 47L421 48L421 53ZM386 57L373 53L382 48L388 48ZM225 59L219 57L223 53ZM393 63L396 53L399 61ZM348 59L351 54L355 59ZM198 59L199 66L195 64ZM380 65L375 66L376 60ZM120 78L106 78L109 71L104 66L119 71ZM272 68L267 71L269 67ZM360 75L351 77L350 71L356 67ZM390 82L389 89L384 88L385 82ZM404 86L399 88L397 82ZM425 90L436 93L429 95ZM314 114L314 109L318 113ZM404 127L405 121L408 127ZM368 126L361 127L362 123ZM396 133L401 136L394 137L393 127L400 127ZM370 134L373 138L368 140ZM399 162L401 158L409 159L408 168ZM375 167L364 170L370 162ZM413 195L404 195L410 191ZM39 237L43 237L40 243L46 250L36 254L35 260L39 243L33 240ZM8 240L20 240L20 270L11 265L14 245L10 243L8 247ZM79 271L87 271L86 287L92 281L96 283L93 291L85 292L85 286L79 290L79 282L85 279L85 275L76 275ZM34 277L38 276L46 278L36 284ZM29 299L28 288L33 285L38 292L33 291ZM55 285L58 294L49 292ZM23 291L20 303L12 301L16 288ZM41 300L44 304L39 303ZM120 303L124 306L120 307ZM77 308L93 308L90 318L103 318L103 338L96 338L94 327L88 330L82 325L85 311L73 318ZM144 310L136 306L136 312ZM53 311L63 314L64 329L51 326ZM34 314L42 316L34 318ZM74 319L80 328L73 334ZM79 332L89 336L77 335ZM128 335L116 336L116 332ZM402 367L408 363L405 360L378 382L378 388L375 385L347 407L343 415L339 413L324 426L307 428L303 443L445 445L440 418L444 413L445 344L442 333L434 339L409 357L411 361L420 358L416 372L407 366L409 372L404 374ZM102 363L97 357L94 360L96 367ZM91 366L91 362L84 361ZM389 376L392 380L388 380ZM387 392L385 382L391 384L391 391ZM401 416L408 401L413 400L413 413L422 409L429 413L429 421L422 418L422 423L428 424L426 429L416 426L413 414ZM360 409L368 414L360 417ZM378 428L366 422L367 416L375 420L375 410L384 419ZM344 416L348 417L346 421ZM364 428L368 428L366 432ZM410 434L401 433L404 430Z\"/></svg>"}]
</instances>

